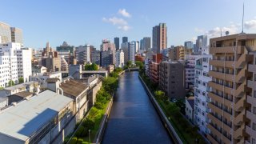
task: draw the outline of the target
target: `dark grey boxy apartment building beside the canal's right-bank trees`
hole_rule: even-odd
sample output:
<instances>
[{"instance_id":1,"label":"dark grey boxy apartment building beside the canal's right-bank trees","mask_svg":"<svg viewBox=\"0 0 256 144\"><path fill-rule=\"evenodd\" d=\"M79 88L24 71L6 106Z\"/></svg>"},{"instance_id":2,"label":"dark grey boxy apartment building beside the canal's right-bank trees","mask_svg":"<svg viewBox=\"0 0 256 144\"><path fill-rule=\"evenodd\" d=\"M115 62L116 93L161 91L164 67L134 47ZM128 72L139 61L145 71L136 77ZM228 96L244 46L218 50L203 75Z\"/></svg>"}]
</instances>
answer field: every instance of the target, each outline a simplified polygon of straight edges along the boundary
<instances>
[{"instance_id":1,"label":"dark grey boxy apartment building beside the canal's right-bank trees","mask_svg":"<svg viewBox=\"0 0 256 144\"><path fill-rule=\"evenodd\" d=\"M186 75L181 62L161 62L159 66L159 86L169 98L185 98Z\"/></svg>"}]
</instances>

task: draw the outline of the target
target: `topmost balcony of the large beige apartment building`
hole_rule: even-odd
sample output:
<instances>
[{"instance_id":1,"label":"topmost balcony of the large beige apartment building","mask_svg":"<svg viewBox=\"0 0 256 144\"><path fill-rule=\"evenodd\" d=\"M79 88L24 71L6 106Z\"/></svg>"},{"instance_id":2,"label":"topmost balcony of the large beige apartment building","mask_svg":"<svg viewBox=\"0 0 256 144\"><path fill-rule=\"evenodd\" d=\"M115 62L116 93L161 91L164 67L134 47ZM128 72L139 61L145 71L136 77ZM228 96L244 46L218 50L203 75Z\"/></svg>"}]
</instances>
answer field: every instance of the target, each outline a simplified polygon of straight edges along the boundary
<instances>
[{"instance_id":1,"label":"topmost balcony of the large beige apartment building","mask_svg":"<svg viewBox=\"0 0 256 144\"><path fill-rule=\"evenodd\" d=\"M232 53L234 54L236 46L223 46L223 47L210 47L210 54L224 54L224 53ZM236 52L237 54L243 54L245 50L245 46L237 46Z\"/></svg>"}]
</instances>

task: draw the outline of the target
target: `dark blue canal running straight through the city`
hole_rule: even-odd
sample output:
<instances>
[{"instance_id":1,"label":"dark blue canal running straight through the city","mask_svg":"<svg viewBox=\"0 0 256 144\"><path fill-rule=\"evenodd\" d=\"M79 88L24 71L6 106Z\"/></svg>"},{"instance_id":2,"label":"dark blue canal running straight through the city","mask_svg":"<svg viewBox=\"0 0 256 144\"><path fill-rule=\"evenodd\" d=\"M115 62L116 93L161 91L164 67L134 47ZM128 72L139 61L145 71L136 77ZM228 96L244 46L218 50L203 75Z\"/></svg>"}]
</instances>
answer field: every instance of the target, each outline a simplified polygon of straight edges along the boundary
<instances>
[{"instance_id":1,"label":"dark blue canal running straight through the city","mask_svg":"<svg viewBox=\"0 0 256 144\"><path fill-rule=\"evenodd\" d=\"M173 143L138 79L138 71L120 77L102 143Z\"/></svg>"}]
</instances>

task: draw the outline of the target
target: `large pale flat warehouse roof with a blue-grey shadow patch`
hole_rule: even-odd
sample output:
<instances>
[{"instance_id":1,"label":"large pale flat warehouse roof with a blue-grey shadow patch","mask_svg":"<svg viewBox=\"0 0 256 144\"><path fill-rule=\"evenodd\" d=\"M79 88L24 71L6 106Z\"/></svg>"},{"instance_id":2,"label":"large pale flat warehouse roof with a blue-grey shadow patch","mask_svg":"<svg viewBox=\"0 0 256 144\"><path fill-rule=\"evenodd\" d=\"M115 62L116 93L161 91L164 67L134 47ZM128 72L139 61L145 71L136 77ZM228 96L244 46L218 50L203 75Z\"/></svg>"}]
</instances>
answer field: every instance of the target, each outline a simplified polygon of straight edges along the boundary
<instances>
[{"instance_id":1,"label":"large pale flat warehouse roof with a blue-grey shadow patch","mask_svg":"<svg viewBox=\"0 0 256 144\"><path fill-rule=\"evenodd\" d=\"M46 90L10 106L0 111L0 134L26 141L70 102L72 98Z\"/></svg>"}]
</instances>

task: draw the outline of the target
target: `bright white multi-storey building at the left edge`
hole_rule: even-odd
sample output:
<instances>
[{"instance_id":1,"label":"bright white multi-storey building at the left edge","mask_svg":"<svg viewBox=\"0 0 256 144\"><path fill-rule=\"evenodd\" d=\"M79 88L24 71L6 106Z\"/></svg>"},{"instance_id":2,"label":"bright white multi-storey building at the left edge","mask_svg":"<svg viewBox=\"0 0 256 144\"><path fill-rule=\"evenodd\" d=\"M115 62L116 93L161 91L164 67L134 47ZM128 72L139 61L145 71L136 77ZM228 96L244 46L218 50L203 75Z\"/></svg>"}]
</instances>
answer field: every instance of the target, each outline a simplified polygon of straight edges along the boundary
<instances>
[{"instance_id":1,"label":"bright white multi-storey building at the left edge","mask_svg":"<svg viewBox=\"0 0 256 144\"><path fill-rule=\"evenodd\" d=\"M31 49L22 48L20 43L0 45L0 86L8 86L10 80L18 83L21 77L24 82L28 82L32 74L31 57Z\"/></svg>"}]
</instances>

